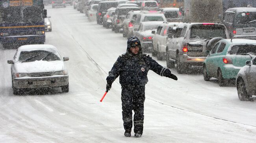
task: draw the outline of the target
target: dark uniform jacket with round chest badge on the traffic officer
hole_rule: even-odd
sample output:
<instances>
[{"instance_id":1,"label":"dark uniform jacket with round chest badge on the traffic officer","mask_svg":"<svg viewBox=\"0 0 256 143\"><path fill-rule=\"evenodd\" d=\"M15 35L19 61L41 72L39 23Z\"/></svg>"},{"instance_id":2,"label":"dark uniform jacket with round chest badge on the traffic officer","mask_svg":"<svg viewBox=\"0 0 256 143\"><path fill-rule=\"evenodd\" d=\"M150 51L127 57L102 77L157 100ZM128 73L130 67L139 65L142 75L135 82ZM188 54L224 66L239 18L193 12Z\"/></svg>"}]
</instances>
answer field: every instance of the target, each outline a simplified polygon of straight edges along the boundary
<instances>
[{"instance_id":1,"label":"dark uniform jacket with round chest badge on the traffic officer","mask_svg":"<svg viewBox=\"0 0 256 143\"><path fill-rule=\"evenodd\" d=\"M166 68L163 68L147 54L132 55L129 52L117 58L109 76L115 79L120 76L119 82L122 86L146 85L148 82L148 71L152 70L163 76Z\"/></svg>"}]
</instances>

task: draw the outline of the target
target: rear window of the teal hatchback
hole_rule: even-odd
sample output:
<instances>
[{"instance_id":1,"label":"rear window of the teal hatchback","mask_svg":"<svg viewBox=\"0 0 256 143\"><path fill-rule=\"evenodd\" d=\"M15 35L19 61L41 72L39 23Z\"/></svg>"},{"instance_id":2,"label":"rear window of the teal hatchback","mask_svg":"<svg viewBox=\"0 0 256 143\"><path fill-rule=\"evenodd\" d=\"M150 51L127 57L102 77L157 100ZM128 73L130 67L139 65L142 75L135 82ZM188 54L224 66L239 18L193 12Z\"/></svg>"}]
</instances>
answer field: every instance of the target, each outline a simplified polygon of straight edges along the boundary
<instances>
[{"instance_id":1,"label":"rear window of the teal hatchback","mask_svg":"<svg viewBox=\"0 0 256 143\"><path fill-rule=\"evenodd\" d=\"M229 54L253 54L256 55L256 45L234 45L231 47Z\"/></svg>"}]
</instances>

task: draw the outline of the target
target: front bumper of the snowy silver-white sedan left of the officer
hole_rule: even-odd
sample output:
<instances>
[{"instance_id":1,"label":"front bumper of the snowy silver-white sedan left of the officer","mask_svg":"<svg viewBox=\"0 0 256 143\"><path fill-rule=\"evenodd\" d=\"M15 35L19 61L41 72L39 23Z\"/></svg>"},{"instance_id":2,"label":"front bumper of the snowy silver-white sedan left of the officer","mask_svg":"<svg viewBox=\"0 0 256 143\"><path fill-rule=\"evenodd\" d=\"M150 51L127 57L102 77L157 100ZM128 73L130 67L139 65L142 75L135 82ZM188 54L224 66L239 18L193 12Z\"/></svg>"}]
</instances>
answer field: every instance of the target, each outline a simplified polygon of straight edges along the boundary
<instances>
[{"instance_id":1,"label":"front bumper of the snowy silver-white sedan left of the officer","mask_svg":"<svg viewBox=\"0 0 256 143\"><path fill-rule=\"evenodd\" d=\"M61 87L69 84L69 75L66 76L50 76L50 77L22 77L13 79L14 88L45 88L45 87Z\"/></svg>"}]
</instances>

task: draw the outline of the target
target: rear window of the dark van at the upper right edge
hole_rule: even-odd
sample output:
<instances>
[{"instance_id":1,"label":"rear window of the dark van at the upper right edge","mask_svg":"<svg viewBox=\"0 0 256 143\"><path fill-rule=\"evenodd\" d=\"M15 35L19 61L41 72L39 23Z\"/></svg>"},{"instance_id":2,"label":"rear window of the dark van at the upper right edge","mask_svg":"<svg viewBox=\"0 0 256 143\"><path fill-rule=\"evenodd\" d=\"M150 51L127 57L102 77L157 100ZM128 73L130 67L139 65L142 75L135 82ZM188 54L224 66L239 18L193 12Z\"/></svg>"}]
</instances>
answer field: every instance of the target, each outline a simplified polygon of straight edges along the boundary
<instances>
[{"instance_id":1,"label":"rear window of the dark van at the upper right edge","mask_svg":"<svg viewBox=\"0 0 256 143\"><path fill-rule=\"evenodd\" d=\"M239 13L236 15L236 18L234 19L234 23L250 24L249 22L252 22L253 20L256 20L256 12Z\"/></svg>"}]
</instances>

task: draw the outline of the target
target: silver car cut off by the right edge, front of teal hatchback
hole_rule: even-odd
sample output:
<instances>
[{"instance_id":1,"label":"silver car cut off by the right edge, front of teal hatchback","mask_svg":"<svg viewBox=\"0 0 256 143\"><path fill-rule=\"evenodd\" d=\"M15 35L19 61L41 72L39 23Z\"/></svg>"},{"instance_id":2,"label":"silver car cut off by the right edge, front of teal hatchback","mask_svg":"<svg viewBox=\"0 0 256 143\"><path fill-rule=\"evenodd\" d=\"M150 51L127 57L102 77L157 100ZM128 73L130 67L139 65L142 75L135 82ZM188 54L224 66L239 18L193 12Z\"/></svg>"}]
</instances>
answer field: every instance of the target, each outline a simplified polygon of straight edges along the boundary
<instances>
[{"instance_id":1,"label":"silver car cut off by the right edge, front of teal hatchback","mask_svg":"<svg viewBox=\"0 0 256 143\"><path fill-rule=\"evenodd\" d=\"M247 101L252 95L256 95L256 58L246 61L246 65L240 69L236 76L236 88L238 98Z\"/></svg>"}]
</instances>

